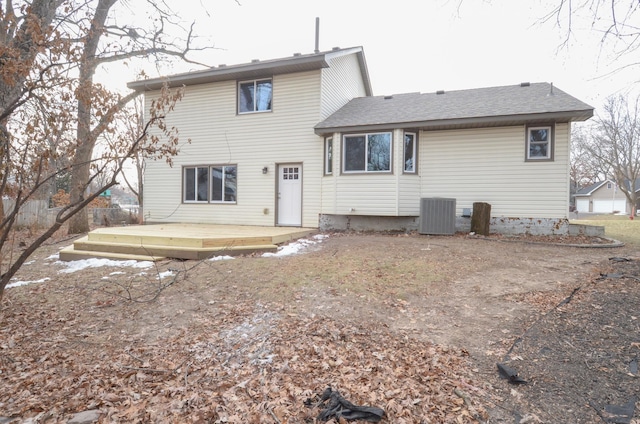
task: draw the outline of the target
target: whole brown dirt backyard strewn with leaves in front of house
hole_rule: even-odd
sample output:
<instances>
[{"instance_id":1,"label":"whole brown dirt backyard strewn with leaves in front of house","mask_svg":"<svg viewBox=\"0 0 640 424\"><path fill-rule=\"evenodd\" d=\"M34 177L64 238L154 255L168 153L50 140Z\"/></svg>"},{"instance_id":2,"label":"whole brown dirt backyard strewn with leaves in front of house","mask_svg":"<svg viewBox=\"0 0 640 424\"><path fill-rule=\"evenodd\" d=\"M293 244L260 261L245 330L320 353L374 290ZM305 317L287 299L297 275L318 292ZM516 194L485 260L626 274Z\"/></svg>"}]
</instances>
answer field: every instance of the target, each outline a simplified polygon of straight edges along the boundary
<instances>
[{"instance_id":1,"label":"whole brown dirt backyard strewn with leaves in front of house","mask_svg":"<svg viewBox=\"0 0 640 424\"><path fill-rule=\"evenodd\" d=\"M328 386L390 423L640 423L630 247L327 234L76 271L52 256L69 243L5 291L0 423L312 423Z\"/></svg>"}]
</instances>

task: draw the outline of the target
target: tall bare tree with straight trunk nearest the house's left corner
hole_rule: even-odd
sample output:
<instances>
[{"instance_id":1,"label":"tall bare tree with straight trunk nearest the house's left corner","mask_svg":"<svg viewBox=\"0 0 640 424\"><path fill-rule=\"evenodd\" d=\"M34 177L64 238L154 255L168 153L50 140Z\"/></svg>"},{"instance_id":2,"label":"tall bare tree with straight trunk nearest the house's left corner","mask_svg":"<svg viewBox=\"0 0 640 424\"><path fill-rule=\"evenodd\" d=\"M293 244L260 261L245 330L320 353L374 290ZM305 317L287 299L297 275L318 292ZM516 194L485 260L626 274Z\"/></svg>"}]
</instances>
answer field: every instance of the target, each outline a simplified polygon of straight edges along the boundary
<instances>
[{"instance_id":1,"label":"tall bare tree with straight trunk nearest the house's left corner","mask_svg":"<svg viewBox=\"0 0 640 424\"><path fill-rule=\"evenodd\" d=\"M94 74L98 66L106 63L130 60L135 57L156 57L157 60L176 57L189 61L187 55L194 47L193 24L180 38L167 34L168 27L175 31L173 19L177 15L164 1L147 0L154 19L145 22L151 27L143 28L119 23L112 17L114 6L119 0L97 0L93 8L80 7L65 17L64 26L69 34L77 34L70 40L81 51L78 61L77 95L77 148L73 158L76 165L71 174L71 199L81 200L87 192L89 177L88 163L98 138L106 130L106 123L113 119L124 106L139 95L130 92L112 103L102 114L96 111L99 101L95 89ZM86 3L84 3L86 4ZM88 18L88 19L87 19ZM89 25L85 25L85 22ZM89 231L87 211L77 214L69 224L69 233Z\"/></svg>"}]
</instances>

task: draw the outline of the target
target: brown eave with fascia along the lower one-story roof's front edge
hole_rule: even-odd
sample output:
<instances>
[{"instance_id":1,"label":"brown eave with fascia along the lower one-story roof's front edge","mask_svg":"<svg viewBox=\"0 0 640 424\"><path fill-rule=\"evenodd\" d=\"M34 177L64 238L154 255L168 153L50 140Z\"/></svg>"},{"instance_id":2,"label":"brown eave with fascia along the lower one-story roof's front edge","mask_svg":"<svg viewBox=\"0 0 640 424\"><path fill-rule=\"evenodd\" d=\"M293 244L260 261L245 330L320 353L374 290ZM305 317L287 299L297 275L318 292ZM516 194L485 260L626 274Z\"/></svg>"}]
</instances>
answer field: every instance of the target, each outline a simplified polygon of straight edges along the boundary
<instances>
[{"instance_id":1,"label":"brown eave with fascia along the lower one-story roof's front edge","mask_svg":"<svg viewBox=\"0 0 640 424\"><path fill-rule=\"evenodd\" d=\"M323 136L332 133L381 131L389 129L412 129L423 131L505 127L516 125L531 125L536 123L563 123L586 121L593 116L593 109L578 111L562 111L547 113L531 113L521 115L483 116L470 118L433 119L425 121L372 123L363 125L345 125L335 127L315 127L315 133Z\"/></svg>"}]
</instances>

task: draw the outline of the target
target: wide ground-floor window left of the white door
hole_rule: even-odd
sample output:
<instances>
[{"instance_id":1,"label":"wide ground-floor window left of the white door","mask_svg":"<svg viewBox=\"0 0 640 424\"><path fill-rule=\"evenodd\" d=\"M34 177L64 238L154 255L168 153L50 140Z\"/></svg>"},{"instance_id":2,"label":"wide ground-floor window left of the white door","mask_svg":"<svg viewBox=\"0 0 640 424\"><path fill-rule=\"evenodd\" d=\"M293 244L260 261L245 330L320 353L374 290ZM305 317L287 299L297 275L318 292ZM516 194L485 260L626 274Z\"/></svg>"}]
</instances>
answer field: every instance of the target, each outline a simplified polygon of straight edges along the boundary
<instances>
[{"instance_id":1,"label":"wide ground-floor window left of the white door","mask_svg":"<svg viewBox=\"0 0 640 424\"><path fill-rule=\"evenodd\" d=\"M236 203L238 167L236 165L185 166L185 203Z\"/></svg>"}]
</instances>

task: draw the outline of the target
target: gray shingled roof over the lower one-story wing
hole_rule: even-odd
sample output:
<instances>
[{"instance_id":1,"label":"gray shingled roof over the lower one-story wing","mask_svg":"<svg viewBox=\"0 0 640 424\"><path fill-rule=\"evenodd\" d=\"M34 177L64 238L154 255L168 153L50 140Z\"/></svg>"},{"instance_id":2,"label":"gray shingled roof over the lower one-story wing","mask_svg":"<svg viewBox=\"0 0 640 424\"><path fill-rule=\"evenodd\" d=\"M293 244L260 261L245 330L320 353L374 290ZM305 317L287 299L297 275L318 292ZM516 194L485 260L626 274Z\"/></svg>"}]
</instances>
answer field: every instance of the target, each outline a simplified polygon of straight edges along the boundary
<instances>
[{"instance_id":1,"label":"gray shingled roof over the lower one-story wing","mask_svg":"<svg viewBox=\"0 0 640 424\"><path fill-rule=\"evenodd\" d=\"M585 121L593 107L549 83L359 97L316 125L316 133L382 128L471 128Z\"/></svg>"}]
</instances>

